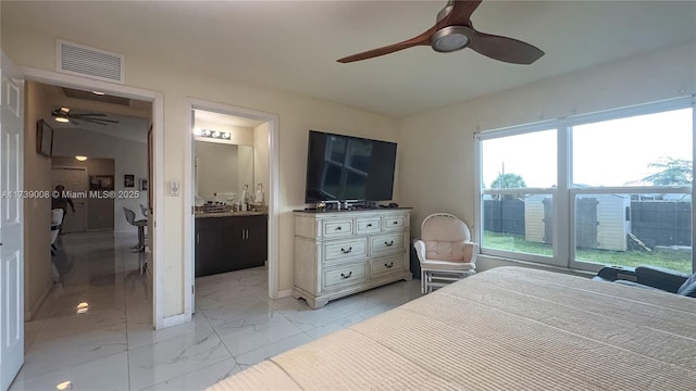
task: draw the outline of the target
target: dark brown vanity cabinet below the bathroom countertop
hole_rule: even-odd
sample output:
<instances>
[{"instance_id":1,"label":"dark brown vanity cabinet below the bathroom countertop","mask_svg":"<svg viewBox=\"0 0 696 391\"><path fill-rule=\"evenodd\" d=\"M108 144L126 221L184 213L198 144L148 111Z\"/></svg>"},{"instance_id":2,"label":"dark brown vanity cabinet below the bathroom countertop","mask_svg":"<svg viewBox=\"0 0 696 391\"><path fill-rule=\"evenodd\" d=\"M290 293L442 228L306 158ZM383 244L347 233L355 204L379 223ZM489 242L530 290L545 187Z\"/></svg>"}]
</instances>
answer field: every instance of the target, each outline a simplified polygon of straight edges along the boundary
<instances>
[{"instance_id":1,"label":"dark brown vanity cabinet below the bathroom countertop","mask_svg":"<svg viewBox=\"0 0 696 391\"><path fill-rule=\"evenodd\" d=\"M263 266L268 260L268 216L196 219L196 277Z\"/></svg>"}]
</instances>

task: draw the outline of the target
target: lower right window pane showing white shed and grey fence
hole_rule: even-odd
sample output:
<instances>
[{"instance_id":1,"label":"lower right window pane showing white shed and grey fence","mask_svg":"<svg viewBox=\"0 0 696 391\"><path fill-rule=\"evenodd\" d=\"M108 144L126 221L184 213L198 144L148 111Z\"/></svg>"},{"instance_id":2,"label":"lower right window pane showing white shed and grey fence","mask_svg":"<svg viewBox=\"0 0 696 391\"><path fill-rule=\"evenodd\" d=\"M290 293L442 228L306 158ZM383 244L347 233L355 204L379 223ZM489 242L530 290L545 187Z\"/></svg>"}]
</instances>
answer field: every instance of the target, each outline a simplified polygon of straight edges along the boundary
<instances>
[{"instance_id":1,"label":"lower right window pane showing white shed and grey fence","mask_svg":"<svg viewBox=\"0 0 696 391\"><path fill-rule=\"evenodd\" d=\"M575 258L691 273L691 194L579 194Z\"/></svg>"}]
</instances>

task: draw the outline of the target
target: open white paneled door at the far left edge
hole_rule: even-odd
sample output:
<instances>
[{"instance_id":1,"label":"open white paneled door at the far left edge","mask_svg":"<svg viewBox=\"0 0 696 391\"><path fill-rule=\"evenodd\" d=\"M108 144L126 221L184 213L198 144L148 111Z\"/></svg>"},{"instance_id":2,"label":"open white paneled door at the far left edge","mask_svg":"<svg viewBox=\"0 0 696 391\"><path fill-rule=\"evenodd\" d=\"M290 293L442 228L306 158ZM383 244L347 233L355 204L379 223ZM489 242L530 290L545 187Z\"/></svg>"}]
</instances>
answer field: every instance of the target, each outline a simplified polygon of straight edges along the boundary
<instances>
[{"instance_id":1,"label":"open white paneled door at the far left edge","mask_svg":"<svg viewBox=\"0 0 696 391\"><path fill-rule=\"evenodd\" d=\"M24 80L1 56L0 390L7 390L24 363Z\"/></svg>"}]
</instances>

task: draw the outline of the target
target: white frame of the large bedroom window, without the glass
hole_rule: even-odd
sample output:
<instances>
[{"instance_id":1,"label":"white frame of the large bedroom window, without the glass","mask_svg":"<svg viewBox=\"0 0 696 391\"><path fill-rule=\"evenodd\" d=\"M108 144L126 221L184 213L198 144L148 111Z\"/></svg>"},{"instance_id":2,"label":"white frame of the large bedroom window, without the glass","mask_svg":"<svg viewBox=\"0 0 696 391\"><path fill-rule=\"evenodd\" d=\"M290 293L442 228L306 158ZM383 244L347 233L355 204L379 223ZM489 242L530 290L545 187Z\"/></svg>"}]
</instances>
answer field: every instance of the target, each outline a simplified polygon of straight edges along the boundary
<instances>
[{"instance_id":1,"label":"white frame of the large bedroom window, without the glass","mask_svg":"<svg viewBox=\"0 0 696 391\"><path fill-rule=\"evenodd\" d=\"M568 117L543 121L521 126L474 133L474 202L476 238L484 238L483 229L483 195L484 194L551 194L554 225L552 225L552 256L519 253L507 250L496 250L485 247L481 241L482 255L492 257L525 261L544 265L571 269L597 272L602 266L597 263L583 262L575 258L575 200L577 194L591 193L686 193L691 194L692 205L696 200L691 186L635 186L635 187L592 187L580 188L572 186L572 128L579 125L599 123L625 117L657 114L661 112L691 109L692 110L692 162L696 164L696 96L638 104L629 108L612 109L597 113L579 114ZM557 133L557 187L556 188L522 188L522 189L484 189L482 142L485 140L518 136L540 130L556 129ZM692 247L696 243L696 209L692 207ZM692 252L692 270L696 272L696 257Z\"/></svg>"}]
</instances>

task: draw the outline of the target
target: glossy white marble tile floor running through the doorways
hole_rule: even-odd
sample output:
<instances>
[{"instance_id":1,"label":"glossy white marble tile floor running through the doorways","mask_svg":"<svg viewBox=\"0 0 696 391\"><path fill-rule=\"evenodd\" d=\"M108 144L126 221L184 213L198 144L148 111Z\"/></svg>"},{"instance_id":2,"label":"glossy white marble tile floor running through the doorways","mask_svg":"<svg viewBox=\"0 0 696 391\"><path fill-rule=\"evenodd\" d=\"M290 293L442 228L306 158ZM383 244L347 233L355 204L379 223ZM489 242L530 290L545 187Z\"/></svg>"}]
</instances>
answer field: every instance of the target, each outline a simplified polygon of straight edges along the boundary
<instances>
[{"instance_id":1,"label":"glossy white marble tile floor running through the doorways","mask_svg":"<svg viewBox=\"0 0 696 391\"><path fill-rule=\"evenodd\" d=\"M134 235L63 235L70 267L32 321L11 391L201 390L270 356L420 297L399 281L312 311L268 298L258 267L196 280L191 323L152 330L152 280L140 275ZM82 304L80 303L86 303Z\"/></svg>"}]
</instances>

